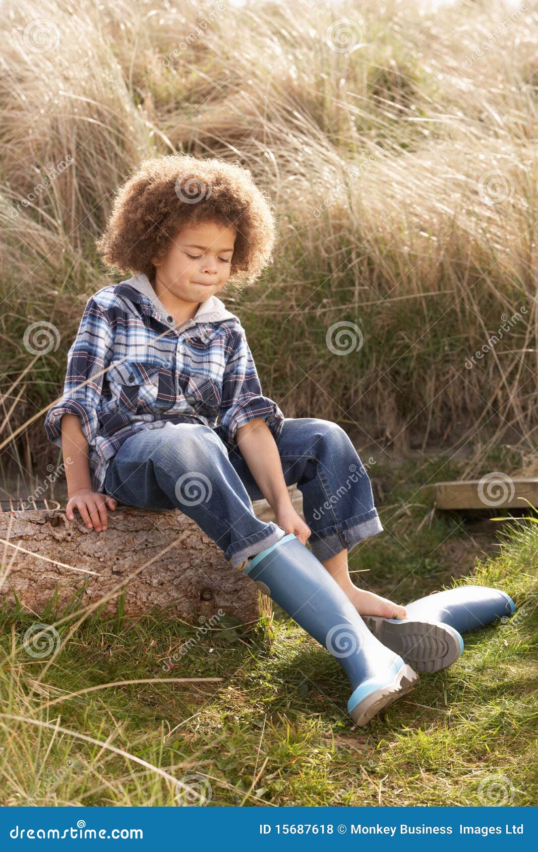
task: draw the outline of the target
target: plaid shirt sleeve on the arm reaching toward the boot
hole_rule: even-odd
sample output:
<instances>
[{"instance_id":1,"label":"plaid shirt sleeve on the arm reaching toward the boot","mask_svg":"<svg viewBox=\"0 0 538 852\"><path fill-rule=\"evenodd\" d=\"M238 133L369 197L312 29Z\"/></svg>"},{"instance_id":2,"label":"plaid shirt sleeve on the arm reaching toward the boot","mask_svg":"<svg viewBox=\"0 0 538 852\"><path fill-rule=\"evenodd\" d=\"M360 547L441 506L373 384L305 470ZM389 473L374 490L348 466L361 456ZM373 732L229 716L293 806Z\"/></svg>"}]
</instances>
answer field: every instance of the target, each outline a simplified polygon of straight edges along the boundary
<instances>
[{"instance_id":1,"label":"plaid shirt sleeve on the arm reaching toward the boot","mask_svg":"<svg viewBox=\"0 0 538 852\"><path fill-rule=\"evenodd\" d=\"M257 417L261 417L273 437L278 438L284 425L284 414L273 400L263 395L245 330L240 326L234 330L231 352L224 368L220 411L221 426L230 444L236 443L237 429Z\"/></svg>"}]
</instances>

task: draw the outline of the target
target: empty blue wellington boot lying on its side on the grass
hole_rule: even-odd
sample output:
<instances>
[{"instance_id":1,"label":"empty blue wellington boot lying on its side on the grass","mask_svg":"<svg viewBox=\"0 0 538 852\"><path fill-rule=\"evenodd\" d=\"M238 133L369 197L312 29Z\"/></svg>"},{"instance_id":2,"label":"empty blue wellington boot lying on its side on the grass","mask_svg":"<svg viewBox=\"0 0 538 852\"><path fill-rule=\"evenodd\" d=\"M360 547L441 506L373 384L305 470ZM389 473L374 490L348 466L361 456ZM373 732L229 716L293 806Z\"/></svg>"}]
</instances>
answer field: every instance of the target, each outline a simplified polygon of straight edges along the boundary
<instances>
[{"instance_id":1,"label":"empty blue wellington boot lying on its side on the grass","mask_svg":"<svg viewBox=\"0 0 538 852\"><path fill-rule=\"evenodd\" d=\"M418 671L451 665L463 651L460 633L477 630L516 610L506 592L471 585L426 595L405 608L407 619L365 615L364 622L379 642Z\"/></svg>"}]
</instances>

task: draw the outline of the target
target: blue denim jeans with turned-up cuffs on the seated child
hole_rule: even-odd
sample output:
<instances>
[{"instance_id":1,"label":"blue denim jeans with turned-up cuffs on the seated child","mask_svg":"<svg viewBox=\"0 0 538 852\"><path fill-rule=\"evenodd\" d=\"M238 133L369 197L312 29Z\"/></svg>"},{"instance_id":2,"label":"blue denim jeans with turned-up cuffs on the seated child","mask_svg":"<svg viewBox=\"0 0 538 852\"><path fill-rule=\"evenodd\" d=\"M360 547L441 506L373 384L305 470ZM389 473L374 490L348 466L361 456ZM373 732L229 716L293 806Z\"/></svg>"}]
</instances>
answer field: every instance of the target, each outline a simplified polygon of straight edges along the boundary
<instances>
[{"instance_id":1,"label":"blue denim jeans with turned-up cuffs on the seated child","mask_svg":"<svg viewBox=\"0 0 538 852\"><path fill-rule=\"evenodd\" d=\"M303 494L310 550L326 561L383 530L372 486L348 435L336 423L286 417L276 440L286 485ZM220 424L165 423L124 440L107 469L105 491L138 509L180 509L237 568L285 534L260 521L263 493Z\"/></svg>"}]
</instances>

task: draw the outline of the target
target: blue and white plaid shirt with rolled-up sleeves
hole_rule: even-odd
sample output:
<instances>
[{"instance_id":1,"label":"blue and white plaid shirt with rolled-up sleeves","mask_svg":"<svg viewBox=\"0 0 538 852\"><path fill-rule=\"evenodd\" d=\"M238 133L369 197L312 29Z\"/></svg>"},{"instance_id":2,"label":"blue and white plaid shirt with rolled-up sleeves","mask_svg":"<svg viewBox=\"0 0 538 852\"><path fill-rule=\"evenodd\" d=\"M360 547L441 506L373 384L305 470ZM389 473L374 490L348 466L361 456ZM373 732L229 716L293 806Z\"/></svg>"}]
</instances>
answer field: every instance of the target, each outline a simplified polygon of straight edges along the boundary
<instances>
[{"instance_id":1,"label":"blue and white plaid shirt with rolled-up sleeves","mask_svg":"<svg viewBox=\"0 0 538 852\"><path fill-rule=\"evenodd\" d=\"M108 465L130 435L165 423L204 423L236 444L235 431L262 417L278 438L284 415L263 396L245 330L217 296L180 327L148 277L102 287L86 303L61 399L44 421L61 447L61 417L80 417L92 490L104 492Z\"/></svg>"}]
</instances>

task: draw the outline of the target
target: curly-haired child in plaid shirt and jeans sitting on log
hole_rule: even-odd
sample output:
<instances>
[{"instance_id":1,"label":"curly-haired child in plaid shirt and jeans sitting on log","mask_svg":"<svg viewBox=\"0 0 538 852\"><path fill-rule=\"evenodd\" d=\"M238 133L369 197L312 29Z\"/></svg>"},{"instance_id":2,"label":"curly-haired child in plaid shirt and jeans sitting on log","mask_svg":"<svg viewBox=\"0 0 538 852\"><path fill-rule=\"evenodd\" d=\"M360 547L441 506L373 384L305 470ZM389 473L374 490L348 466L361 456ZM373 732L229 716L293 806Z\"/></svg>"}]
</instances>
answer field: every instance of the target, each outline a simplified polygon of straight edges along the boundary
<instances>
[{"instance_id":1,"label":"curly-haired child in plaid shirt and jeans sitting on log","mask_svg":"<svg viewBox=\"0 0 538 852\"><path fill-rule=\"evenodd\" d=\"M104 531L118 502L180 509L235 568L263 563L263 590L345 658L349 709L363 724L416 680L359 615L404 619L404 608L356 588L348 572L350 548L383 529L370 481L337 424L285 417L263 395L245 330L216 295L229 279L257 279L274 244L269 201L249 170L186 156L142 162L97 241L109 267L134 274L90 296L44 426L66 462L67 518L78 509ZM294 483L307 523L289 498ZM254 514L263 497L276 523ZM282 559L286 588L276 592L268 565L283 576ZM316 624L305 612L313 597ZM336 628L353 634L353 659Z\"/></svg>"}]
</instances>

